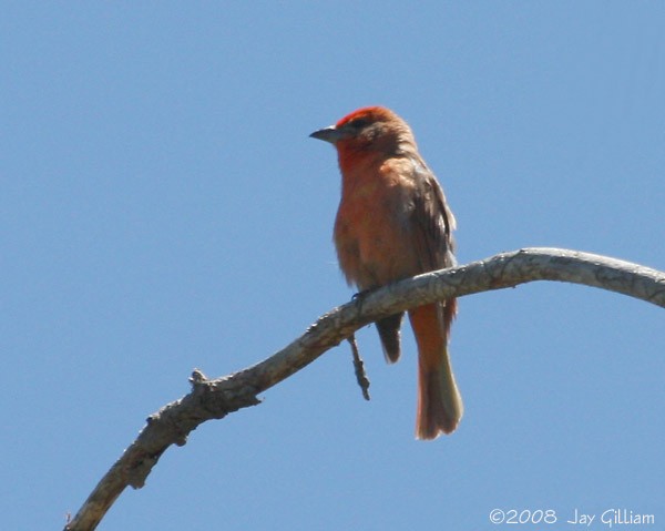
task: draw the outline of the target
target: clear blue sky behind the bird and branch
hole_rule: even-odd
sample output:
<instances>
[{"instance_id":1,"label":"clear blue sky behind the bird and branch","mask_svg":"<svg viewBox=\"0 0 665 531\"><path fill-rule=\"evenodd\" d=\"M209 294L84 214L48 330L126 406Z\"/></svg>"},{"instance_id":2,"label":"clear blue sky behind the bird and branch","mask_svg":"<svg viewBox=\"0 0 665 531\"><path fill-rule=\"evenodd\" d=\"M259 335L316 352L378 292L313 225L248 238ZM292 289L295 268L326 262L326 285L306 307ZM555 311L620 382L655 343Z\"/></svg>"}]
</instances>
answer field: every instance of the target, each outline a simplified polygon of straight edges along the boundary
<instances>
[{"instance_id":1,"label":"clear blue sky behind the bird and branch","mask_svg":"<svg viewBox=\"0 0 665 531\"><path fill-rule=\"evenodd\" d=\"M60 529L194 367L252 365L349 299L336 157L308 134L358 106L412 125L460 262L665 269L665 4L408 6L3 2L4 529ZM370 402L334 349L170 449L100 529L510 528L494 508L663 529L664 316L562 284L462 299L466 416L434 442L410 333L387 367L369 327Z\"/></svg>"}]
</instances>

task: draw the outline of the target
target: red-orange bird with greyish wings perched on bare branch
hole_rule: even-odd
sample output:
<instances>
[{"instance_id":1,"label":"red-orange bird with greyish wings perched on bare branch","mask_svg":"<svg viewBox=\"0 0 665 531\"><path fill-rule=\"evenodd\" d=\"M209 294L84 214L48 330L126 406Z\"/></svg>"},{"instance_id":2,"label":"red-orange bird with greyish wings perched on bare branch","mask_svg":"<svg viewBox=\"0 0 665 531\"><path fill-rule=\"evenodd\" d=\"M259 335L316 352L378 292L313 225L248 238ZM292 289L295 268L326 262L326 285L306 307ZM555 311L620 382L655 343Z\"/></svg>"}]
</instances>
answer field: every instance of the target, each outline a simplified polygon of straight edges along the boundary
<instances>
[{"instance_id":1,"label":"red-orange bird with greyish wings perched on bare branch","mask_svg":"<svg viewBox=\"0 0 665 531\"><path fill-rule=\"evenodd\" d=\"M366 106L310 136L337 150L341 198L332 239L349 285L362 294L457 264L456 218L403 119ZM463 415L448 349L456 313L454 298L408 312L418 347L417 439L451 433ZM376 323L390 364L401 354L402 318L399 313Z\"/></svg>"}]
</instances>

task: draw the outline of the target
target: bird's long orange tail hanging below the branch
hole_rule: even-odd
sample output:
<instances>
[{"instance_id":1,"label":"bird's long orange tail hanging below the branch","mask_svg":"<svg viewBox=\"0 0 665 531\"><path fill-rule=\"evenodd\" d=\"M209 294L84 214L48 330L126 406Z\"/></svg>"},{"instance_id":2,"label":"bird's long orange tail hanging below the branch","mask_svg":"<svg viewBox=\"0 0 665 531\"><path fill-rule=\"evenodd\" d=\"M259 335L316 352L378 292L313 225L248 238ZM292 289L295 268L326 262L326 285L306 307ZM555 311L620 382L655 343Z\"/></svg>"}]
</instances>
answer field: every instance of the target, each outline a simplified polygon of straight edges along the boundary
<instances>
[{"instance_id":1,"label":"bird's long orange tail hanging below the branch","mask_svg":"<svg viewBox=\"0 0 665 531\"><path fill-rule=\"evenodd\" d=\"M409 313L418 343L417 439L454 431L464 411L448 354L454 306L454 300L447 300L446 307L433 304Z\"/></svg>"}]
</instances>

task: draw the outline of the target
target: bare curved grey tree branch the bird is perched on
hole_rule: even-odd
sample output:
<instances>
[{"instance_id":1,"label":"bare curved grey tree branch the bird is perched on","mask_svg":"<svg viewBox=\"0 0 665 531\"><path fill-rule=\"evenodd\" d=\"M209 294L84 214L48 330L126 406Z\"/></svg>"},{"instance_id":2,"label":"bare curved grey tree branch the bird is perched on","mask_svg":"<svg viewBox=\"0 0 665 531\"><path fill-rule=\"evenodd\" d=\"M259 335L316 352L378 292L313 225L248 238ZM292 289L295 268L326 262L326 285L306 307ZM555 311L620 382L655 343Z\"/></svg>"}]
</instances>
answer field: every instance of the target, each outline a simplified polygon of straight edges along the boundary
<instances>
[{"instance_id":1,"label":"bare curved grey tree branch the bird is perched on","mask_svg":"<svg viewBox=\"0 0 665 531\"><path fill-rule=\"evenodd\" d=\"M143 487L171 445L185 445L188 433L206 420L259 404L259 392L297 372L365 325L434 300L533 280L583 284L665 307L665 273L606 256L555 248L501 253L395 283L330 310L303 336L253 367L213 380L195 370L190 379L192 391L149 417L136 440L102 478L65 530L95 529L127 486Z\"/></svg>"}]
</instances>

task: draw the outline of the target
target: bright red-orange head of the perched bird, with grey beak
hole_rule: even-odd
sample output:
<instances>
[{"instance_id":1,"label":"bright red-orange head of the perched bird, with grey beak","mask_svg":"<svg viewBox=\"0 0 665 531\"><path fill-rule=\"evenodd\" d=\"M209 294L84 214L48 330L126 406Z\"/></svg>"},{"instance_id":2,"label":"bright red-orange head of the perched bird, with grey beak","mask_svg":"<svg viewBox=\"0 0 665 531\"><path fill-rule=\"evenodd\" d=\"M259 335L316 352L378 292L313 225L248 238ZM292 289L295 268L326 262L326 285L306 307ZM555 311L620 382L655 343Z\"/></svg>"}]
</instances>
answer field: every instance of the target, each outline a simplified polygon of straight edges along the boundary
<instances>
[{"instance_id":1,"label":"bright red-orange head of the perched bird, with grey beak","mask_svg":"<svg viewBox=\"0 0 665 531\"><path fill-rule=\"evenodd\" d=\"M309 136L330 142L340 155L362 151L398 154L416 144L407 122L383 106L358 109Z\"/></svg>"}]
</instances>

